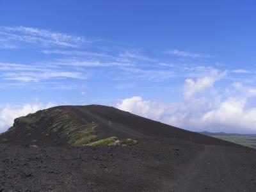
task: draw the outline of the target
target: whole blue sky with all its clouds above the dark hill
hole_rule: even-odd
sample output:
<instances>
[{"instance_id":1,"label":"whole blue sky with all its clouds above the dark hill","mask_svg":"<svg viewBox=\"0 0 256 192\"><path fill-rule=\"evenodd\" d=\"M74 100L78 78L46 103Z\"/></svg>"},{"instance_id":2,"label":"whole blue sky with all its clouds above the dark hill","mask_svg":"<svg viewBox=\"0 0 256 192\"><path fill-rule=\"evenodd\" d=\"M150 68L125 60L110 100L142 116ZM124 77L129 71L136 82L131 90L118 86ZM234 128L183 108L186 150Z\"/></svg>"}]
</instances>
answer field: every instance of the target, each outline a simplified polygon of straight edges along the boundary
<instances>
[{"instance_id":1,"label":"whole blue sky with all its clouds above the dark hill","mask_svg":"<svg viewBox=\"0 0 256 192\"><path fill-rule=\"evenodd\" d=\"M0 18L0 132L63 104L256 132L255 1L0 0Z\"/></svg>"}]
</instances>

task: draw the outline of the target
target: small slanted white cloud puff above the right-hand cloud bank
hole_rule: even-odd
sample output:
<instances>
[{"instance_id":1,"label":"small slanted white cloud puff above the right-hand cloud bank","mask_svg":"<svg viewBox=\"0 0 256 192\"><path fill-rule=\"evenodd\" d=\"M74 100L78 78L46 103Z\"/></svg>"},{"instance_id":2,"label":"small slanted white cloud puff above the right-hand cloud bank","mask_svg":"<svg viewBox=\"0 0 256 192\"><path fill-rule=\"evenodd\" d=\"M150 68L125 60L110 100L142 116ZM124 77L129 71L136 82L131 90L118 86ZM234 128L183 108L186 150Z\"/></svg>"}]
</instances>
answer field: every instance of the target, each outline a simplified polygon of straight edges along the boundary
<instances>
[{"instance_id":1,"label":"small slanted white cloud puff above the right-hand cloud bank","mask_svg":"<svg viewBox=\"0 0 256 192\"><path fill-rule=\"evenodd\" d=\"M189 99L195 93L201 92L205 88L211 87L216 81L224 77L226 72L218 72L212 70L211 74L205 77L200 77L194 81L193 79L186 79L184 84L184 97Z\"/></svg>"}]
</instances>

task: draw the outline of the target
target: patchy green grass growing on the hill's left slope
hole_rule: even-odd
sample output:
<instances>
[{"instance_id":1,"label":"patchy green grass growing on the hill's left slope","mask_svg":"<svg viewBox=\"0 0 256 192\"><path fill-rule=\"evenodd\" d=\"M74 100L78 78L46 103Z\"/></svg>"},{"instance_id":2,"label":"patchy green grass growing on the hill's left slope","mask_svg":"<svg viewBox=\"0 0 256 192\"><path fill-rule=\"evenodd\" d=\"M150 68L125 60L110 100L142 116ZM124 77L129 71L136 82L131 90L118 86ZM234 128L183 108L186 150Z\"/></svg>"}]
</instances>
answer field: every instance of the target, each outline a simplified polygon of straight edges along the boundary
<instances>
[{"instance_id":1,"label":"patchy green grass growing on the hill's left slope","mask_svg":"<svg viewBox=\"0 0 256 192\"><path fill-rule=\"evenodd\" d=\"M22 116L16 120L17 126L13 126L10 131L14 131L20 124L26 128L26 136L32 136L33 131L40 125L44 125L42 135L45 137L50 134L56 134L60 138L54 140L55 145L61 145L67 142L69 145L74 147L98 146L98 145L118 145L118 146L129 146L138 143L132 139L119 140L117 137L112 136L110 138L104 138L102 140L93 141L97 138L95 134L95 128L98 126L95 123L82 123L74 118L74 114L71 111L63 109L54 110L41 110L27 116ZM42 129L42 128L41 128ZM38 141L32 138L31 142ZM93 141L93 142L92 142Z\"/></svg>"}]
</instances>

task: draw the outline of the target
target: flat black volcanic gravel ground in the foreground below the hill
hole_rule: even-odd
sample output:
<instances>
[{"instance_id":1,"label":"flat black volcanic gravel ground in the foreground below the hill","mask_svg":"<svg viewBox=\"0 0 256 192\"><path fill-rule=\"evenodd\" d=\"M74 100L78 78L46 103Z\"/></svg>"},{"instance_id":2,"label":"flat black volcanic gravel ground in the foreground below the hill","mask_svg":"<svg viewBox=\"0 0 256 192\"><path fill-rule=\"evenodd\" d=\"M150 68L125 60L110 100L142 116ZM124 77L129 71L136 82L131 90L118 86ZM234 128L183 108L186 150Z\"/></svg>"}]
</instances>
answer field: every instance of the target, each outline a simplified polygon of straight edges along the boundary
<instances>
[{"instance_id":1,"label":"flat black volcanic gravel ground in the foreground below the hill","mask_svg":"<svg viewBox=\"0 0 256 192\"><path fill-rule=\"evenodd\" d=\"M0 191L256 191L256 152L170 138L132 147L1 144Z\"/></svg>"}]
</instances>

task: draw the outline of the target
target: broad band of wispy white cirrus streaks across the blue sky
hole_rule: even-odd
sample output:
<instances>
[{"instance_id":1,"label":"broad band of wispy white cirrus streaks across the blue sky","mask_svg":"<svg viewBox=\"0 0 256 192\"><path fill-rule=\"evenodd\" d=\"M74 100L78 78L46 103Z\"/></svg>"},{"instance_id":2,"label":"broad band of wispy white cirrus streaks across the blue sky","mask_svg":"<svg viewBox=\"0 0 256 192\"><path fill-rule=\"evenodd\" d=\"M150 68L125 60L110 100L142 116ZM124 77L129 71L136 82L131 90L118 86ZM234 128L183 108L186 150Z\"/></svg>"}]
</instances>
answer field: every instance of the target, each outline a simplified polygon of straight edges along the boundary
<instances>
[{"instance_id":1,"label":"broad band of wispy white cirrus streaks across the blue sky","mask_svg":"<svg viewBox=\"0 0 256 192\"><path fill-rule=\"evenodd\" d=\"M43 58L50 58L28 64L0 63L0 76L4 77L4 80L39 82L59 77L83 79L81 74L85 70L94 70L93 68L97 68L97 70L99 68L102 77L109 79L139 78L151 81L171 79L185 73L186 75L200 73L198 67L180 65L180 63L166 70L163 68L166 66L157 65L159 63L157 59L144 54L145 50L143 49L112 46L115 49L104 49L103 51L97 44L87 46L90 41L83 36L67 35L48 29L2 26L0 27L1 37L17 46L20 42L24 43L22 46L24 49L27 48L26 45L33 44L36 46L36 49L33 50L36 51L36 54L44 54ZM175 51L175 54L194 58L202 56L182 51ZM60 76L62 71L65 72L65 75L62 73ZM58 76L50 76L53 73Z\"/></svg>"}]
</instances>

